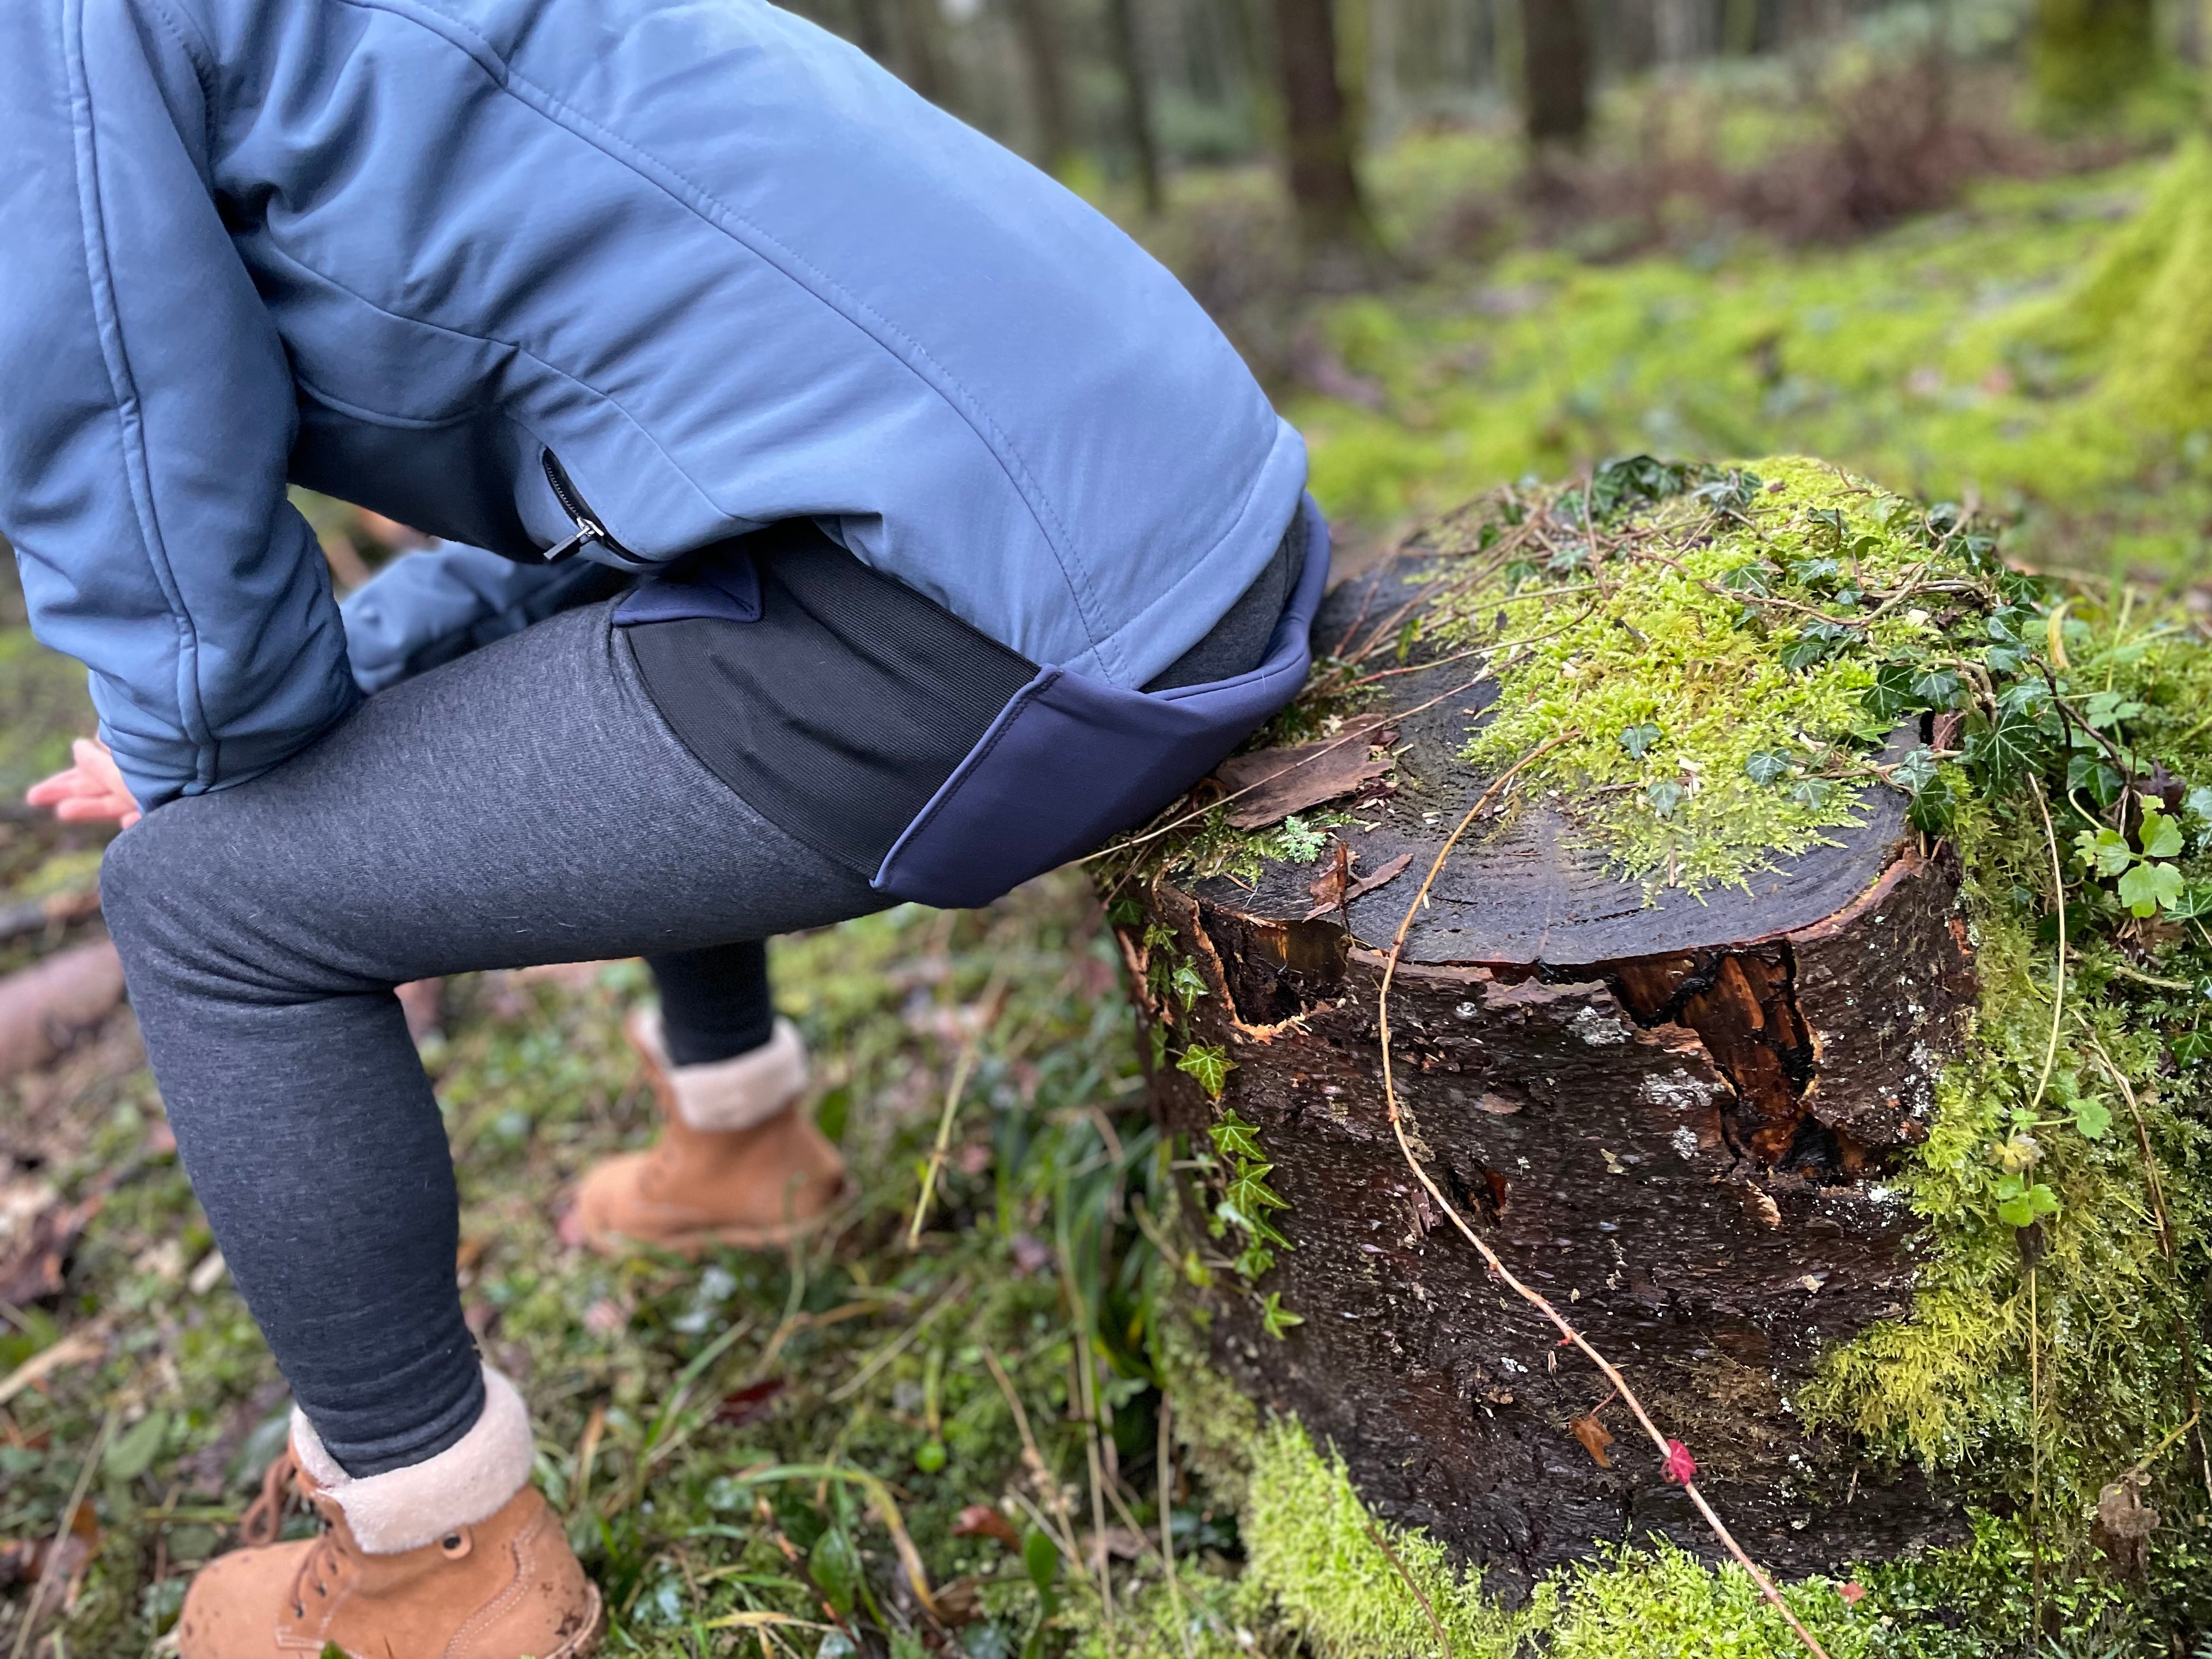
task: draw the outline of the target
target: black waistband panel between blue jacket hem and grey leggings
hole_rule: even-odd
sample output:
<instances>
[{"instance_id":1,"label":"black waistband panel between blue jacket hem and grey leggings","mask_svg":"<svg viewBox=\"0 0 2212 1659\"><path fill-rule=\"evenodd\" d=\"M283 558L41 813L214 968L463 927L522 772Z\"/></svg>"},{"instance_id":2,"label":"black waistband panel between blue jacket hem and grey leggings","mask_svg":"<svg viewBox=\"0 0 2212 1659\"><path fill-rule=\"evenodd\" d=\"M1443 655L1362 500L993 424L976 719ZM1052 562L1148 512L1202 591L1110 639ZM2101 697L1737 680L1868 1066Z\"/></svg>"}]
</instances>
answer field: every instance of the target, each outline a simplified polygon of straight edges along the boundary
<instances>
[{"instance_id":1,"label":"black waistband panel between blue jacket hem and grey leggings","mask_svg":"<svg viewBox=\"0 0 2212 1659\"><path fill-rule=\"evenodd\" d=\"M1294 540L1148 690L1259 664L1298 582ZM754 812L874 876L1037 664L807 520L741 546L759 573L761 619L626 626L639 675L670 730Z\"/></svg>"}]
</instances>

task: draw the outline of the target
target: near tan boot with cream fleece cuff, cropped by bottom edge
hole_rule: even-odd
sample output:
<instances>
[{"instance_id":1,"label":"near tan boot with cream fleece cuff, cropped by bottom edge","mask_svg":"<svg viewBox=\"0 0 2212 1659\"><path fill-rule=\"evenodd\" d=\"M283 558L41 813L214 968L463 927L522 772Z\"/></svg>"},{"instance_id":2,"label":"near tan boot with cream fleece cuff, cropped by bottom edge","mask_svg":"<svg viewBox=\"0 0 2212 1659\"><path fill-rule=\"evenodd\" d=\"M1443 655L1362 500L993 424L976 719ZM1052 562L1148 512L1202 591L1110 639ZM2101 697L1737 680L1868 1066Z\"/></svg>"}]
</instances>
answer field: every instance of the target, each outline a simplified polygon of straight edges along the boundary
<instances>
[{"instance_id":1,"label":"near tan boot with cream fleece cuff, cropped by bottom edge","mask_svg":"<svg viewBox=\"0 0 2212 1659\"><path fill-rule=\"evenodd\" d=\"M529 1484L531 1422L484 1371L484 1416L436 1458L352 1480L296 1411L292 1449L239 1528L274 1537L296 1480L327 1531L230 1551L199 1571L179 1659L582 1659L606 1615Z\"/></svg>"}]
</instances>

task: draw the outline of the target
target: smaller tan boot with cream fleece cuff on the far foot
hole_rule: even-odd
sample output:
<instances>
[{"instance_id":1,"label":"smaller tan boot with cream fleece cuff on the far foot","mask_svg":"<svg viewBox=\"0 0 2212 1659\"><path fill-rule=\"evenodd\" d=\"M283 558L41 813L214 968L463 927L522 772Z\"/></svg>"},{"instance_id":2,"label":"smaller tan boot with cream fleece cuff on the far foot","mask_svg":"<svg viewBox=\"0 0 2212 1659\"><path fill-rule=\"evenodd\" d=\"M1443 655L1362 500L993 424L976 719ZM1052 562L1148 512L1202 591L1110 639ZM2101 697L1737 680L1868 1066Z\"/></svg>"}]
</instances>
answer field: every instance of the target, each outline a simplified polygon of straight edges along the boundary
<instances>
[{"instance_id":1,"label":"smaller tan boot with cream fleece cuff on the far foot","mask_svg":"<svg viewBox=\"0 0 2212 1659\"><path fill-rule=\"evenodd\" d=\"M575 1194L575 1234L602 1254L624 1243L697 1254L772 1248L821 1228L847 1192L845 1159L801 1095L807 1053L790 1020L765 1046L708 1066L670 1066L661 1022L639 1011L630 1044L661 1104L650 1152L593 1168Z\"/></svg>"}]
</instances>

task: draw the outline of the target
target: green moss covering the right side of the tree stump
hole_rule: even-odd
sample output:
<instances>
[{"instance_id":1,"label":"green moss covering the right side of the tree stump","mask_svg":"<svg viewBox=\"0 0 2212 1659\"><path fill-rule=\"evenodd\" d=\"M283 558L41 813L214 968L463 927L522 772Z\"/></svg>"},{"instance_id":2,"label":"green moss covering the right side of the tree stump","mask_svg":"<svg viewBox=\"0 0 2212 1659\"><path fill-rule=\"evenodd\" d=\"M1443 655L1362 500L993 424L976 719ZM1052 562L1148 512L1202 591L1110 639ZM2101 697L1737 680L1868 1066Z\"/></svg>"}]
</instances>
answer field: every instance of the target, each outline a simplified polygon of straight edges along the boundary
<instances>
[{"instance_id":1,"label":"green moss covering the right side of the tree stump","mask_svg":"<svg viewBox=\"0 0 2212 1659\"><path fill-rule=\"evenodd\" d=\"M2132 737L2146 754L2212 776L2212 657L2174 622L2090 608L2073 666L2141 703ZM2079 794L2057 803L2068 854L2090 814ZM2070 911L2059 1048L2024 1121L2053 1029L2051 845L2026 799L1969 801L1953 834L1980 998L1966 1057L1942 1073L1931 1130L1898 1172L1924 1223L1913 1310L1829 1356L1798 1405L1893 1458L1960 1473L1984 1500L2033 1495L2079 1546L2099 1489L2168 1440L2192 1387L2212 1389L2190 1334L2212 1263L2212 1095L2199 1064L2174 1060L2203 1006L2188 984L2205 942L2201 922L2121 922L2112 938L2093 911ZM2192 874L2203 836L2197 821L2181 860ZM2170 989L2130 960L2154 953L2170 958L2154 971ZM2062 1203L2028 1234L1997 1214L2015 1146ZM2185 1449L2168 1458L2183 1482L2188 1462Z\"/></svg>"}]
</instances>

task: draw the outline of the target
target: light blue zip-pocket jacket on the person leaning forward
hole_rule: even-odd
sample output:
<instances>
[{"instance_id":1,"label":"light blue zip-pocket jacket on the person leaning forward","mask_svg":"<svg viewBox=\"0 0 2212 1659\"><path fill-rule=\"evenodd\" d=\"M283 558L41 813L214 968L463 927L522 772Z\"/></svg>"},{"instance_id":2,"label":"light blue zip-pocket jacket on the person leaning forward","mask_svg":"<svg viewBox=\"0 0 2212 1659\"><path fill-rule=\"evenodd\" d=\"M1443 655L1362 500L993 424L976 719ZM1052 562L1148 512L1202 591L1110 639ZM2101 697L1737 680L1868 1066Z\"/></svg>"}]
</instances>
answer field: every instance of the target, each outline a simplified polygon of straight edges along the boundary
<instances>
[{"instance_id":1,"label":"light blue zip-pocket jacket on the person leaning forward","mask_svg":"<svg viewBox=\"0 0 2212 1659\"><path fill-rule=\"evenodd\" d=\"M1305 476L1139 248L759 0L7 0L0 223L0 531L146 805L358 697L288 480L617 568L814 515L1133 688Z\"/></svg>"}]
</instances>

